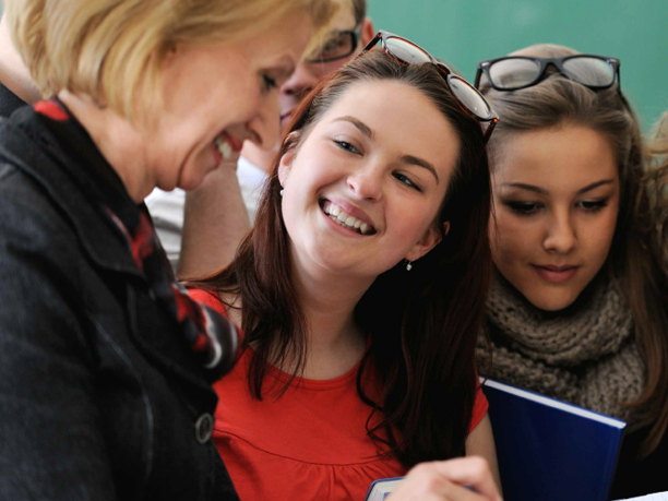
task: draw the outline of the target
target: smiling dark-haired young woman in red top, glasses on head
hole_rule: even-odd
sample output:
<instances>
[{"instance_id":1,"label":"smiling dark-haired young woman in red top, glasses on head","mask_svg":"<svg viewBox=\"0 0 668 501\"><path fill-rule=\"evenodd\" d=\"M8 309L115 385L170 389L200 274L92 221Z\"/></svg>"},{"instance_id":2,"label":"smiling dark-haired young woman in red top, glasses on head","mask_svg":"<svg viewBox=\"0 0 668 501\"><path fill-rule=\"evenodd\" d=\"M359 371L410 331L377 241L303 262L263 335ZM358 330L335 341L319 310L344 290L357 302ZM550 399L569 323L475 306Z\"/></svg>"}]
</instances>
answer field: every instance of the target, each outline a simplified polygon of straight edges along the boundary
<instances>
[{"instance_id":1,"label":"smiling dark-haired young woman in red top, glasses on head","mask_svg":"<svg viewBox=\"0 0 668 501\"><path fill-rule=\"evenodd\" d=\"M361 500L375 479L468 455L485 461L422 464L392 499L499 499L475 370L485 117L462 99L488 107L420 62L385 46L319 84L235 261L189 284L243 332L214 431L241 499Z\"/></svg>"}]
</instances>

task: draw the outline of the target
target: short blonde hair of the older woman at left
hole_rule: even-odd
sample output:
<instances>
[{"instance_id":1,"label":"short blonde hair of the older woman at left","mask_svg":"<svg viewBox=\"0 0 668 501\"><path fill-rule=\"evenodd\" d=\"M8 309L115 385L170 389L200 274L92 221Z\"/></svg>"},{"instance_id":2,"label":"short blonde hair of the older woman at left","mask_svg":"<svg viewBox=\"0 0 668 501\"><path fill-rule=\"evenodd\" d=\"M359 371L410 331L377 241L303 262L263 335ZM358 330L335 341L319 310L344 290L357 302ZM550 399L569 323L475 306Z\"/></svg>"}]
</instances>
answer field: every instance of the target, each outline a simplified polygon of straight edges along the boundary
<instances>
[{"instance_id":1,"label":"short blonde hair of the older woman at left","mask_svg":"<svg viewBox=\"0 0 668 501\"><path fill-rule=\"evenodd\" d=\"M323 28L338 0L7 0L14 46L49 97L83 93L131 119L156 98L177 46L248 39L303 12Z\"/></svg>"}]
</instances>

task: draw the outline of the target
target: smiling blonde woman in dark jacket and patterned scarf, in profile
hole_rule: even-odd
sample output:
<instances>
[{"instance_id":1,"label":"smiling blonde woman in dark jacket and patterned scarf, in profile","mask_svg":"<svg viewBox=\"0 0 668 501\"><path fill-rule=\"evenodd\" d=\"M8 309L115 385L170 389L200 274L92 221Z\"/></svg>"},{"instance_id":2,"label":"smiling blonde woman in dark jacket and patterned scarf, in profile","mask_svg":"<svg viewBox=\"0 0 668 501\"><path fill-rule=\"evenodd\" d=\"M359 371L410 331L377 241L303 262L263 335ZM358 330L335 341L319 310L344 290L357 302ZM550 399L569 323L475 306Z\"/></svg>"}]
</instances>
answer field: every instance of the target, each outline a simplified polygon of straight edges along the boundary
<instances>
[{"instance_id":1,"label":"smiling blonde woman in dark jacket and patterned scarf, in profile","mask_svg":"<svg viewBox=\"0 0 668 501\"><path fill-rule=\"evenodd\" d=\"M170 276L142 201L273 145L323 0L15 0L45 97L0 122L0 497L235 500L212 381L236 332Z\"/></svg>"}]
</instances>

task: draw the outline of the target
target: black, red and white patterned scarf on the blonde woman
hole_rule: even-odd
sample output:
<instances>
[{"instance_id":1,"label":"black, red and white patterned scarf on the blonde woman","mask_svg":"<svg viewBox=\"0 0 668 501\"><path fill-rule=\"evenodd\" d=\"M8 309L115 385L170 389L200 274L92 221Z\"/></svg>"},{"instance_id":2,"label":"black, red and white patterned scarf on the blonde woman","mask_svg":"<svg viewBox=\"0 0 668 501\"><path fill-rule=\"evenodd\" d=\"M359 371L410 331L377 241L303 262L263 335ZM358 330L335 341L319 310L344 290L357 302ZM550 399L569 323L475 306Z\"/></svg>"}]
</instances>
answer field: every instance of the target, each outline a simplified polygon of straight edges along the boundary
<instances>
[{"instance_id":1,"label":"black, red and white patterned scarf on the blonde woman","mask_svg":"<svg viewBox=\"0 0 668 501\"><path fill-rule=\"evenodd\" d=\"M146 206L138 207L132 202L116 171L67 107L53 98L37 103L35 110L50 119L47 121L50 131L76 152L92 175L102 179L97 183L102 208L127 240L128 250L150 287L151 298L174 318L208 381L218 380L236 361L238 334L234 324L192 300L176 281Z\"/></svg>"}]
</instances>

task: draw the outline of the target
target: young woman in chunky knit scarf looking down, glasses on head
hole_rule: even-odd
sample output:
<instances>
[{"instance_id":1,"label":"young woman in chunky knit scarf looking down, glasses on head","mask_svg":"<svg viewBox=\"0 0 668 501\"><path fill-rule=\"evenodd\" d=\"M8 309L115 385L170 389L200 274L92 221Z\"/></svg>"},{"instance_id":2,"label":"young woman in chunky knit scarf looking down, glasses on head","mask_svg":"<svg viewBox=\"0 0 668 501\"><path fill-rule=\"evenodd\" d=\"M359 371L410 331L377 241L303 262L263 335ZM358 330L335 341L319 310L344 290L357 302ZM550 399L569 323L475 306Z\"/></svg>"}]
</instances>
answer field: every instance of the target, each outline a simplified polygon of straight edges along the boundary
<instances>
[{"instance_id":1,"label":"young woman in chunky knit scarf looking down, glasses on head","mask_svg":"<svg viewBox=\"0 0 668 501\"><path fill-rule=\"evenodd\" d=\"M476 85L500 116L479 370L627 421L612 499L668 490L668 191L647 183L620 62L538 45L480 62Z\"/></svg>"}]
</instances>

